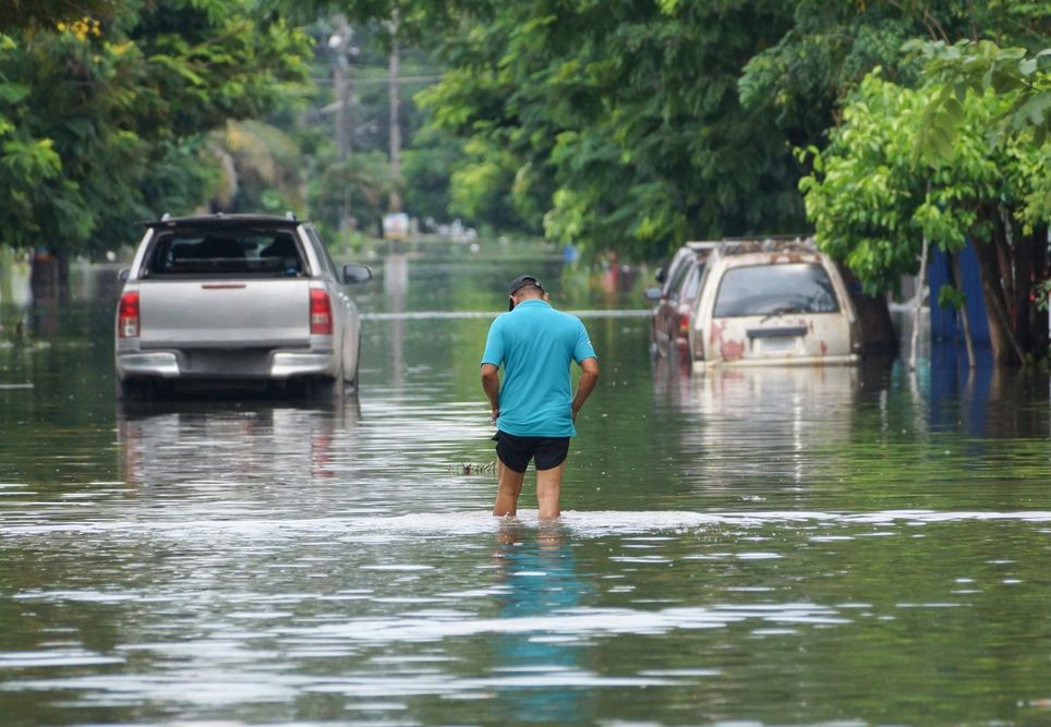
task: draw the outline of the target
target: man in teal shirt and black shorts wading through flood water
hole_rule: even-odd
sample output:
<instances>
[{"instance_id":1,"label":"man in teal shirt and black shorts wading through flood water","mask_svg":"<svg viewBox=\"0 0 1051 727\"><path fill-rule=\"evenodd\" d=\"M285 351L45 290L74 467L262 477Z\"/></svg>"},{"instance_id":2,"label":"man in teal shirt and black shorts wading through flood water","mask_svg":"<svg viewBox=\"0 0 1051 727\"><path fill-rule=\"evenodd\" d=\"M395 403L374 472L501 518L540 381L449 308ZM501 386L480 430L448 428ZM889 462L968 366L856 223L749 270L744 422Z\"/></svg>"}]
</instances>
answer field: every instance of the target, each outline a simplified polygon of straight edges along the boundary
<instances>
[{"instance_id":1,"label":"man in teal shirt and black shorts wading through flood water","mask_svg":"<svg viewBox=\"0 0 1051 727\"><path fill-rule=\"evenodd\" d=\"M509 295L508 312L490 326L482 354L482 388L497 429L499 489L493 514L516 513L526 468L533 460L540 517L557 518L569 438L577 434L577 412L599 383L599 359L584 325L553 308L536 278L515 278ZM576 396L570 361L582 369Z\"/></svg>"}]
</instances>

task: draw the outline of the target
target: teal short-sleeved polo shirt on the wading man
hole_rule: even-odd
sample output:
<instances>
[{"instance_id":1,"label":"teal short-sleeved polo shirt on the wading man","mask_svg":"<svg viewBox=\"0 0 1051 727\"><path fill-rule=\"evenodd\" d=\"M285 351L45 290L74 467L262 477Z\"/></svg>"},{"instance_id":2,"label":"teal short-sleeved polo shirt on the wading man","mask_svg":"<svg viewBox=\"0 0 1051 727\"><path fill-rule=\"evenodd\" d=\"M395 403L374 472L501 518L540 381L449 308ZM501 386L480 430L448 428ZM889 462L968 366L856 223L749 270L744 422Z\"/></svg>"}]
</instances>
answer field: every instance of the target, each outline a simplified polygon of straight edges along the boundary
<instances>
[{"instance_id":1,"label":"teal short-sleeved polo shirt on the wading man","mask_svg":"<svg viewBox=\"0 0 1051 727\"><path fill-rule=\"evenodd\" d=\"M571 437L569 364L595 356L580 318L528 300L490 326L483 364L504 367L496 427L518 437Z\"/></svg>"}]
</instances>

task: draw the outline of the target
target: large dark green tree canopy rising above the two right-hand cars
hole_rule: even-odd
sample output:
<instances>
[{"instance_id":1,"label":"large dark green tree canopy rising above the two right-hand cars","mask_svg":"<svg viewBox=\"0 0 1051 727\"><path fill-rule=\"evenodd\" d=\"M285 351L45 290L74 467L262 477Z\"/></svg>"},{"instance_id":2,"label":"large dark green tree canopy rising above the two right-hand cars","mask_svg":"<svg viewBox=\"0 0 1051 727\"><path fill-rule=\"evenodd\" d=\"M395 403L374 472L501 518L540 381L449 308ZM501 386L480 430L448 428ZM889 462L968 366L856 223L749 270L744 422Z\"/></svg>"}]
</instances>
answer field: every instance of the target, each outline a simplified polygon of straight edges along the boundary
<instances>
[{"instance_id":1,"label":"large dark green tree canopy rising above the two right-hand cars","mask_svg":"<svg viewBox=\"0 0 1051 727\"><path fill-rule=\"evenodd\" d=\"M559 242L657 254L796 228L799 169L737 94L745 61L789 19L759 0L464 12L446 39L450 71L422 101L437 126L503 152L490 166L505 169L516 209L539 210Z\"/></svg>"}]
</instances>

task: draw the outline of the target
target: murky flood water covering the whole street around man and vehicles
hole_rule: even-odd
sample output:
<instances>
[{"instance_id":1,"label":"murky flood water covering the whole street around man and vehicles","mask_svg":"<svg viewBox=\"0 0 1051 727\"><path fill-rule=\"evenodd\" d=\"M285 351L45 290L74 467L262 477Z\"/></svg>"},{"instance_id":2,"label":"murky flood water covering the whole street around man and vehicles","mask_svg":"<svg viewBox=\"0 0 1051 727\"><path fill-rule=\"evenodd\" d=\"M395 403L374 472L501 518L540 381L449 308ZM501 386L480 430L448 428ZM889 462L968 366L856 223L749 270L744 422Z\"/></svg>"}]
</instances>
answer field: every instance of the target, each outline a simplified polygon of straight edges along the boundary
<instances>
[{"instance_id":1,"label":"murky flood water covering the whole street around man and vehicles","mask_svg":"<svg viewBox=\"0 0 1051 727\"><path fill-rule=\"evenodd\" d=\"M112 271L26 313L0 724L1051 723L1047 374L690 376L649 353L645 274L375 267L341 407L121 409ZM478 362L523 271L602 365L554 524L532 473L488 512Z\"/></svg>"}]
</instances>

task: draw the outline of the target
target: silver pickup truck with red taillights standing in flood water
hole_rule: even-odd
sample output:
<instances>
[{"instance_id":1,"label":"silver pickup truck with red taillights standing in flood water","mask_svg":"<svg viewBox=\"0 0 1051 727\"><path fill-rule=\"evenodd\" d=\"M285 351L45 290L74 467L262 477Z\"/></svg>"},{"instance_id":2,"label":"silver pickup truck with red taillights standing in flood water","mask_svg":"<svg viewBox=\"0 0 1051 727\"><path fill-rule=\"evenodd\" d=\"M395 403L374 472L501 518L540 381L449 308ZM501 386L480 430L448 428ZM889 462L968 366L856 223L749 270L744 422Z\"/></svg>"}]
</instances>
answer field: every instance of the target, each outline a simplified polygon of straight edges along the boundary
<instances>
[{"instance_id":1,"label":"silver pickup truck with red taillights standing in flood water","mask_svg":"<svg viewBox=\"0 0 1051 727\"><path fill-rule=\"evenodd\" d=\"M146 225L117 306L118 396L158 387L288 388L341 396L357 386L361 324L309 222L263 215L168 217ZM297 387L298 388L298 387Z\"/></svg>"}]
</instances>

